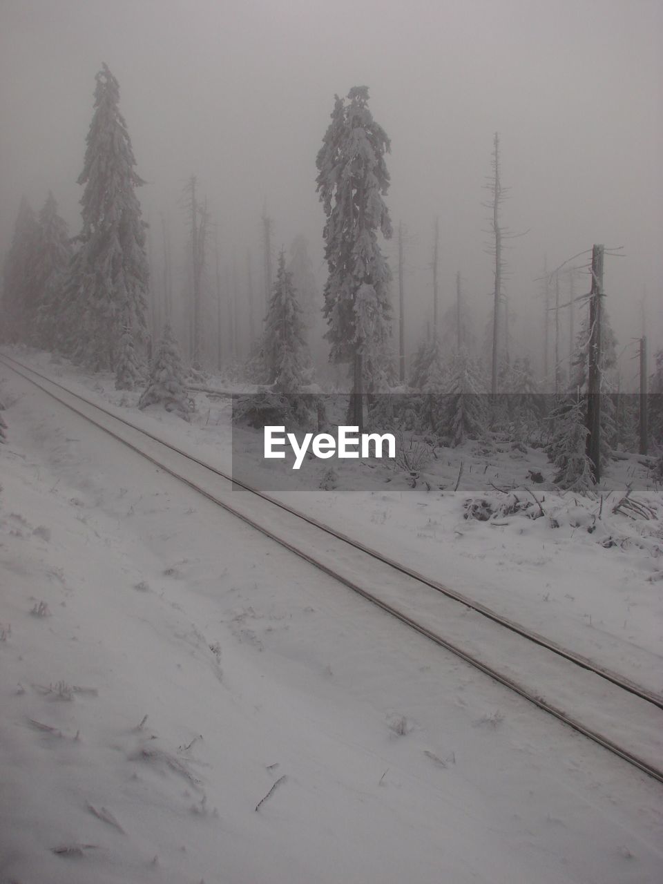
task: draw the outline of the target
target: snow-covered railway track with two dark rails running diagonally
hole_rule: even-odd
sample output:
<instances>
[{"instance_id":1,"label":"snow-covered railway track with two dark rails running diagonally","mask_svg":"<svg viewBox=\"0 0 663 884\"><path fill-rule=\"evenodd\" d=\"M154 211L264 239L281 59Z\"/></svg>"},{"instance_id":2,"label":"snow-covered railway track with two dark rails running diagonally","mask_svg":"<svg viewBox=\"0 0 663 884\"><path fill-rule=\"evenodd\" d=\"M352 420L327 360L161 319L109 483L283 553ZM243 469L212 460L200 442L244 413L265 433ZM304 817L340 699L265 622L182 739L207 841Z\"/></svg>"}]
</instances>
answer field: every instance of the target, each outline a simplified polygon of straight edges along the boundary
<instances>
[{"instance_id":1,"label":"snow-covered railway track with two dark rails running diagonally","mask_svg":"<svg viewBox=\"0 0 663 884\"><path fill-rule=\"evenodd\" d=\"M663 782L663 699L287 507L4 354L4 365L159 469L575 731Z\"/></svg>"}]
</instances>

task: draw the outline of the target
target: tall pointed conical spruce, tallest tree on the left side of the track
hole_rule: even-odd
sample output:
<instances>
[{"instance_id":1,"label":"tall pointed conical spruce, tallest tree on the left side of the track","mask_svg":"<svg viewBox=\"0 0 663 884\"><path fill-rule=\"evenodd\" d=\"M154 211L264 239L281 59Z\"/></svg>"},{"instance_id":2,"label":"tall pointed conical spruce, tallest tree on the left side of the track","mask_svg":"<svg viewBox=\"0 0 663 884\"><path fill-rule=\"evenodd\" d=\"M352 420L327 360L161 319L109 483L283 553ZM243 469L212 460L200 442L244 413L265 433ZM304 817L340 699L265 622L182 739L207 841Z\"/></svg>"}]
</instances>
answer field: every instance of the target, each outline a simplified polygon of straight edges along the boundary
<instances>
[{"instance_id":1,"label":"tall pointed conical spruce, tallest tree on the left side of the track","mask_svg":"<svg viewBox=\"0 0 663 884\"><path fill-rule=\"evenodd\" d=\"M103 65L96 74L95 113L78 179L85 187L80 248L65 291L67 349L95 371L118 369L123 335L133 337L140 353L146 339L147 225L135 193L144 182L135 171L118 103L118 80Z\"/></svg>"}]
</instances>

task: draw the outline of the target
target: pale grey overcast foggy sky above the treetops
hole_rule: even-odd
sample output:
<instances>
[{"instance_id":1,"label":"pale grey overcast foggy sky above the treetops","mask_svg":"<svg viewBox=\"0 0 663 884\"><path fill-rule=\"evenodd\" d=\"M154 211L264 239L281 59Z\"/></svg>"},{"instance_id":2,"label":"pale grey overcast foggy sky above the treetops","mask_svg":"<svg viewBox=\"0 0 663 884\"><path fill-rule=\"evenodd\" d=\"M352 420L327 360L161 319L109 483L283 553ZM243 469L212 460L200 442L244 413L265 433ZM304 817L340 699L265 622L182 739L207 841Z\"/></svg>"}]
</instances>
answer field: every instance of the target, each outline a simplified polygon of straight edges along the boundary
<instances>
[{"instance_id":1,"label":"pale grey overcast foggy sky above the treetops","mask_svg":"<svg viewBox=\"0 0 663 884\"><path fill-rule=\"evenodd\" d=\"M118 78L143 210L167 210L193 172L225 256L259 251L263 204L275 245L298 232L321 257L316 152L334 93L370 87L392 140L387 202L408 225L411 297L430 298L431 226L451 300L461 270L488 310L481 206L492 137L512 187L504 223L514 303L593 242L621 343L639 333L644 287L663 332L663 4L659 0L0 0L0 247L21 194L52 189L72 232L95 72ZM515 334L524 334L524 328Z\"/></svg>"}]
</instances>

